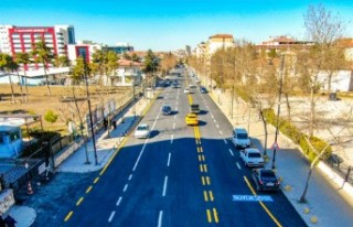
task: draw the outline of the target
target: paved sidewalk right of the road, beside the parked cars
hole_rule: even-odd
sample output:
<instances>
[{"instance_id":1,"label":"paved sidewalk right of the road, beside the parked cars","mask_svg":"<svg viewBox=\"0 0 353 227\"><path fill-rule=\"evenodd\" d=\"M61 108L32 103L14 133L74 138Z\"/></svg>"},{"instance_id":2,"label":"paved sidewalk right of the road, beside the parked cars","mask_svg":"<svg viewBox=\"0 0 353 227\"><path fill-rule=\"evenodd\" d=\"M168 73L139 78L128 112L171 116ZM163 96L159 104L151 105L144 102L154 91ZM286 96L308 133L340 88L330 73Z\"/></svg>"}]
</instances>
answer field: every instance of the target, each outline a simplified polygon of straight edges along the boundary
<instances>
[{"instance_id":1,"label":"paved sidewalk right of the road, beside the parked cars","mask_svg":"<svg viewBox=\"0 0 353 227\"><path fill-rule=\"evenodd\" d=\"M258 114L249 109L240 99L234 100L233 119L231 117L231 95L218 94L213 90L210 94L220 109L228 118L234 127L243 127L248 130L253 145L264 150L265 131ZM218 102L220 101L220 102ZM248 121L248 119L250 119ZM248 123L250 122L250 123ZM268 126L267 155L269 156L266 167L271 167L272 150L276 129ZM328 177L317 166L309 182L307 204L299 203L309 173L310 163L291 140L278 134L279 150L276 153L275 166L278 176L282 177L281 187L287 198L297 212L302 216L308 226L352 226L353 221L353 196L350 194L351 185L344 185L350 190L342 190L342 184L336 184L338 176ZM340 182L340 181L339 181Z\"/></svg>"}]
</instances>

